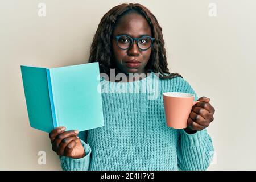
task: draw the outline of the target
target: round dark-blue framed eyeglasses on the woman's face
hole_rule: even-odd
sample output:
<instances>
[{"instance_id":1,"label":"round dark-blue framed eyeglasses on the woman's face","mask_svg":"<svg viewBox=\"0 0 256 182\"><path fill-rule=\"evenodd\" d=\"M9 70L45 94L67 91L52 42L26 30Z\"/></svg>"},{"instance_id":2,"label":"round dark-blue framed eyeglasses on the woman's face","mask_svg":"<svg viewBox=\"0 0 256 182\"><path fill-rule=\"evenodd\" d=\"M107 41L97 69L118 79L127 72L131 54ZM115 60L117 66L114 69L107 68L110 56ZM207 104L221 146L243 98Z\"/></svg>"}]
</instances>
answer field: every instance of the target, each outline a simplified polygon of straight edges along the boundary
<instances>
[{"instance_id":1,"label":"round dark-blue framed eyeglasses on the woman's face","mask_svg":"<svg viewBox=\"0 0 256 182\"><path fill-rule=\"evenodd\" d=\"M139 49L142 51L146 51L149 49L155 38L151 38L151 36L142 36L141 38L131 38L128 35L119 35L116 36L115 39L117 40L117 46L122 50L127 50L131 48L131 45L133 45L134 40L136 41L136 44Z\"/></svg>"}]
</instances>

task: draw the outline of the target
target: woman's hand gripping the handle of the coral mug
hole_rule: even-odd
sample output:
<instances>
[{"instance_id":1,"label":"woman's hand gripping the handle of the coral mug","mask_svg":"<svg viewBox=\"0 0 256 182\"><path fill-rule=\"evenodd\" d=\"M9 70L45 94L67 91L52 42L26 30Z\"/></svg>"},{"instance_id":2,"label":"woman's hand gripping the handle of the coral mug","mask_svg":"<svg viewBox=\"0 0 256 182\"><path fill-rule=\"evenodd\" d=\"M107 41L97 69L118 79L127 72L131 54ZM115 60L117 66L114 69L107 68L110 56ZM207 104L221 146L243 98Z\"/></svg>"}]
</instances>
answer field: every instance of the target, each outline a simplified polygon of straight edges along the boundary
<instances>
[{"instance_id":1,"label":"woman's hand gripping the handle of the coral mug","mask_svg":"<svg viewBox=\"0 0 256 182\"><path fill-rule=\"evenodd\" d=\"M189 114L188 126L184 129L189 134L205 129L214 119L213 114L215 109L210 105L210 99L200 97L197 101L199 102L192 107L191 113Z\"/></svg>"}]
</instances>

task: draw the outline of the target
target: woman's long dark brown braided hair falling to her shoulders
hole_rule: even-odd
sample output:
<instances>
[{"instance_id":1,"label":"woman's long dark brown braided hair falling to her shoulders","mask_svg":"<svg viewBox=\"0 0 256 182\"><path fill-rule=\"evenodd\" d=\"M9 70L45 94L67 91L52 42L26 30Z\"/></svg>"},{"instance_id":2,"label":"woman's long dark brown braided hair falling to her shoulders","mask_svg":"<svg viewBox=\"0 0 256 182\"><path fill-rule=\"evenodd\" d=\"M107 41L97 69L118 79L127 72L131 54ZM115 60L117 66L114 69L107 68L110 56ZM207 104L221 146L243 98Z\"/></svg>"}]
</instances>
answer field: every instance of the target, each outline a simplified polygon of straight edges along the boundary
<instances>
[{"instance_id":1,"label":"woman's long dark brown braided hair falling to her shoulders","mask_svg":"<svg viewBox=\"0 0 256 182\"><path fill-rule=\"evenodd\" d=\"M174 78L181 77L179 73L169 73L167 68L166 60L166 49L164 48L164 40L162 34L162 28L160 27L158 20L141 4L123 3L115 6L106 13L94 35L92 45L90 47L90 58L89 63L98 62L100 65L100 73L106 73L109 75L110 69L114 68L113 61L113 50L112 50L112 34L118 19L130 11L136 11L146 18L148 24L151 27L152 36L155 38L155 42L152 45L150 60L145 69L150 69L154 73L160 73L159 78Z\"/></svg>"}]
</instances>

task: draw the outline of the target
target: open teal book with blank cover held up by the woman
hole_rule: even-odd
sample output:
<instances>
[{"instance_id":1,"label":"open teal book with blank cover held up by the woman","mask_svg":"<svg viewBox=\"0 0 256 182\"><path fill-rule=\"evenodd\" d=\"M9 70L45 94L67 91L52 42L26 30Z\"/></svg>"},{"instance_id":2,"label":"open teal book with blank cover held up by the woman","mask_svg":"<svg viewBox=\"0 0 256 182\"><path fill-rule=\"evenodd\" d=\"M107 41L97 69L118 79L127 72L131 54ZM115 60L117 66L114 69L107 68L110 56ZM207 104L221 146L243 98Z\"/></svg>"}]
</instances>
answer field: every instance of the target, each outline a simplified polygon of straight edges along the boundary
<instances>
[{"instance_id":1,"label":"open teal book with blank cover held up by the woman","mask_svg":"<svg viewBox=\"0 0 256 182\"><path fill-rule=\"evenodd\" d=\"M30 126L49 133L104 126L98 62L58 68L21 65Z\"/></svg>"}]
</instances>

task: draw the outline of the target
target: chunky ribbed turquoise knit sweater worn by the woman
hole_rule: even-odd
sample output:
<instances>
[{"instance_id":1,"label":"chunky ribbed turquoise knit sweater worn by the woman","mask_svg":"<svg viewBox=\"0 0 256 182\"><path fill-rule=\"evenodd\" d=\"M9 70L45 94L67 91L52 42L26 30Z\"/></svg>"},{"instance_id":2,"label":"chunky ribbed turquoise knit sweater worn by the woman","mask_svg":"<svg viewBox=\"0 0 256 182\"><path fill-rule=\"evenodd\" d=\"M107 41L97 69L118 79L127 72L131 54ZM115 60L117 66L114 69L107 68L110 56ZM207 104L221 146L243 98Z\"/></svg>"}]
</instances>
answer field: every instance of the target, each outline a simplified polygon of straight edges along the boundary
<instances>
[{"instance_id":1,"label":"chunky ribbed turquoise knit sweater worn by the woman","mask_svg":"<svg viewBox=\"0 0 256 182\"><path fill-rule=\"evenodd\" d=\"M205 170L213 157L207 130L167 127L163 92L197 95L183 78L134 82L101 79L104 125L79 133L85 157L60 156L63 170ZM146 90L146 92L145 92Z\"/></svg>"}]
</instances>

